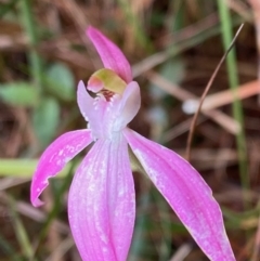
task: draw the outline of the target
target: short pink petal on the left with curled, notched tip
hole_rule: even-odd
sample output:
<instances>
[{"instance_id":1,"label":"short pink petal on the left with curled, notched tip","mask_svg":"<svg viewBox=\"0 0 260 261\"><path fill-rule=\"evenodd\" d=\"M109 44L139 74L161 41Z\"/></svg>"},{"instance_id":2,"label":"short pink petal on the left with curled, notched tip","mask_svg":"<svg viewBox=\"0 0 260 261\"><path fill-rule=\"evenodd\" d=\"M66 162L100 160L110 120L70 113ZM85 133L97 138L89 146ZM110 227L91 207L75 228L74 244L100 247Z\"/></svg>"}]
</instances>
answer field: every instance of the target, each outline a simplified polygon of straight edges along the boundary
<instances>
[{"instance_id":1,"label":"short pink petal on the left with curled, notched tip","mask_svg":"<svg viewBox=\"0 0 260 261\"><path fill-rule=\"evenodd\" d=\"M92 142L90 130L77 130L58 136L41 155L30 186L30 200L35 207L48 186L48 179L56 175L65 165Z\"/></svg>"}]
</instances>

